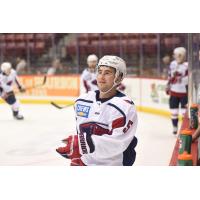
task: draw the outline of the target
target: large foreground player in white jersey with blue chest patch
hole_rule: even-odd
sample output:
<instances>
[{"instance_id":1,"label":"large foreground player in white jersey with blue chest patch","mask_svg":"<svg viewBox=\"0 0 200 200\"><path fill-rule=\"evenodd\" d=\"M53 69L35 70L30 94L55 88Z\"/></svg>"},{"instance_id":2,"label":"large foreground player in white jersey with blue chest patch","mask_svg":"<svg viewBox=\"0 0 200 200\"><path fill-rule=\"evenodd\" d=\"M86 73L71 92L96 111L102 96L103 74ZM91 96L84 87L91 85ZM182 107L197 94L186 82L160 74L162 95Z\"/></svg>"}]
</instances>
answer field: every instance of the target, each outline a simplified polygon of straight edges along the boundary
<instances>
[{"instance_id":1,"label":"large foreground player in white jersey with blue chest patch","mask_svg":"<svg viewBox=\"0 0 200 200\"><path fill-rule=\"evenodd\" d=\"M104 56L97 66L99 90L81 95L75 103L77 135L57 149L74 166L131 166L136 157L137 113L132 100L117 90L126 64Z\"/></svg>"}]
</instances>

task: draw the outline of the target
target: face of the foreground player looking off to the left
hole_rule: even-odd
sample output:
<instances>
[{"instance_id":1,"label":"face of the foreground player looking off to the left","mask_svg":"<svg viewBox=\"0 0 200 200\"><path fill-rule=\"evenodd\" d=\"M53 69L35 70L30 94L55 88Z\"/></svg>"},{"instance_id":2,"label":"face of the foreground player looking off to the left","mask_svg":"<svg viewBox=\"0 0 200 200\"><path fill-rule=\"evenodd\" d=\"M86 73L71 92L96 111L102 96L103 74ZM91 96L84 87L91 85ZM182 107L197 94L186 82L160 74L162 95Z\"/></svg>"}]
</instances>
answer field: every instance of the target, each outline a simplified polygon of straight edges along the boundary
<instances>
[{"instance_id":1,"label":"face of the foreground player looking off to the left","mask_svg":"<svg viewBox=\"0 0 200 200\"><path fill-rule=\"evenodd\" d=\"M100 91L108 91L114 84L115 69L112 67L101 66L97 72L97 85Z\"/></svg>"}]
</instances>

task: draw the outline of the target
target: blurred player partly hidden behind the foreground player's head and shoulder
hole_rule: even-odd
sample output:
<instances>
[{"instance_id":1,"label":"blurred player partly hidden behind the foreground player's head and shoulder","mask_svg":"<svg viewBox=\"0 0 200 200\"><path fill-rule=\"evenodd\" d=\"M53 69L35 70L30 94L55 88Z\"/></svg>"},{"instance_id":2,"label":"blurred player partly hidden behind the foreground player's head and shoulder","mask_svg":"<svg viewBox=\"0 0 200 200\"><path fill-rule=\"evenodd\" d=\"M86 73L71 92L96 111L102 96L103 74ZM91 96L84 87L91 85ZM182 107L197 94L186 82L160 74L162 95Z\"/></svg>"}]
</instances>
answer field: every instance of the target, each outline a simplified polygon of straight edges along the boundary
<instances>
[{"instance_id":1,"label":"blurred player partly hidden behind the foreground player's head and shoulder","mask_svg":"<svg viewBox=\"0 0 200 200\"><path fill-rule=\"evenodd\" d=\"M88 56L88 68L86 68L81 75L81 81L86 92L98 90L95 72L97 63L98 57L96 55L91 54Z\"/></svg>"}]
</instances>

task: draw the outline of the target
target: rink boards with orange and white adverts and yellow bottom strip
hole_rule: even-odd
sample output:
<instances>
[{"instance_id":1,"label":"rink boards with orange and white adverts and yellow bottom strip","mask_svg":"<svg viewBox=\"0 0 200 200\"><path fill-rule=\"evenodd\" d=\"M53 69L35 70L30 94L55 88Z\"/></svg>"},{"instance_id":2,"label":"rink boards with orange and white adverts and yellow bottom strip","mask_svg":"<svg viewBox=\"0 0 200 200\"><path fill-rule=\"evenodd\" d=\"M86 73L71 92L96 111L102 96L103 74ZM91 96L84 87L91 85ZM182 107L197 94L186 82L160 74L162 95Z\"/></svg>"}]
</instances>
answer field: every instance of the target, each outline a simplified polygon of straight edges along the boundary
<instances>
[{"instance_id":1,"label":"rink boards with orange and white adverts and yellow bottom strip","mask_svg":"<svg viewBox=\"0 0 200 200\"><path fill-rule=\"evenodd\" d=\"M42 75L20 76L25 87L31 88L40 84ZM130 96L139 111L164 115L169 117L168 99L165 94L164 79L127 77L123 80L125 93ZM29 89L26 93L17 93L21 103L48 104L54 101L58 104L71 104L84 92L79 75L48 76L44 86ZM0 100L0 103L3 103Z\"/></svg>"}]
</instances>

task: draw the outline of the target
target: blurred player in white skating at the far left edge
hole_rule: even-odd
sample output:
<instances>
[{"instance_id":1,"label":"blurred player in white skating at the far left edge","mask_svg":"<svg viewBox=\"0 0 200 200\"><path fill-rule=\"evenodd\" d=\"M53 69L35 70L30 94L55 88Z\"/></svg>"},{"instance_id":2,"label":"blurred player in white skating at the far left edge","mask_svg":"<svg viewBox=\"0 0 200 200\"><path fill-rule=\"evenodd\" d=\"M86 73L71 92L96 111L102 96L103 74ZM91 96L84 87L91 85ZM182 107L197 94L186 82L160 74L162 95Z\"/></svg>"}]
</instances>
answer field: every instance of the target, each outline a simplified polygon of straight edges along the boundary
<instances>
[{"instance_id":1,"label":"blurred player in white skating at the far left edge","mask_svg":"<svg viewBox=\"0 0 200 200\"><path fill-rule=\"evenodd\" d=\"M22 120L24 117L19 113L20 104L13 92L12 86L14 83L17 84L17 87L21 92L25 91L19 83L17 73L14 69L12 69L11 64L9 62L2 63L0 73L0 96L11 106L14 118Z\"/></svg>"}]
</instances>

